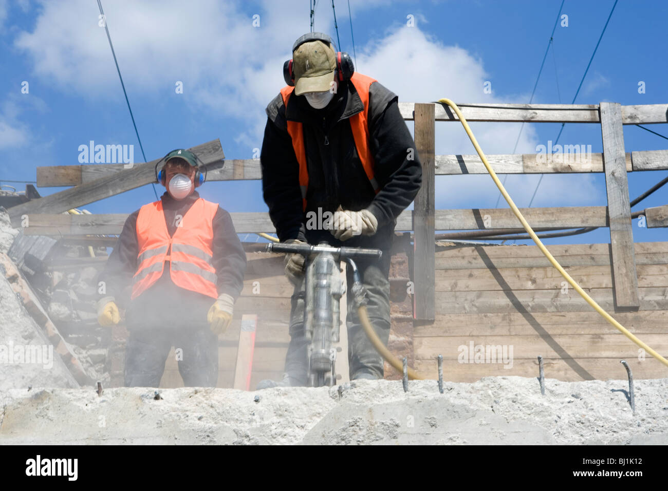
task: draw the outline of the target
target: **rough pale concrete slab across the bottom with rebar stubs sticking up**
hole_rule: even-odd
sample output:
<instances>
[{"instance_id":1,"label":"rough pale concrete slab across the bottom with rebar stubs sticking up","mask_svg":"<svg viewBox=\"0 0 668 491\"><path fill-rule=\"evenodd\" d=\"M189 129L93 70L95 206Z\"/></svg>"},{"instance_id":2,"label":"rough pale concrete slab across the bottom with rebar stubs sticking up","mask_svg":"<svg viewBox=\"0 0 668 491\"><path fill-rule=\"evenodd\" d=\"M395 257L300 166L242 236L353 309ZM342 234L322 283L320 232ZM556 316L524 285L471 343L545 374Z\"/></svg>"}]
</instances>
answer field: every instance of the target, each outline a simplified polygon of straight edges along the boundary
<instances>
[{"instance_id":1,"label":"rough pale concrete slab across the bottom with rebar stubs sticking up","mask_svg":"<svg viewBox=\"0 0 668 491\"><path fill-rule=\"evenodd\" d=\"M668 444L668 379L354 381L246 392L12 389L2 444Z\"/></svg>"}]
</instances>

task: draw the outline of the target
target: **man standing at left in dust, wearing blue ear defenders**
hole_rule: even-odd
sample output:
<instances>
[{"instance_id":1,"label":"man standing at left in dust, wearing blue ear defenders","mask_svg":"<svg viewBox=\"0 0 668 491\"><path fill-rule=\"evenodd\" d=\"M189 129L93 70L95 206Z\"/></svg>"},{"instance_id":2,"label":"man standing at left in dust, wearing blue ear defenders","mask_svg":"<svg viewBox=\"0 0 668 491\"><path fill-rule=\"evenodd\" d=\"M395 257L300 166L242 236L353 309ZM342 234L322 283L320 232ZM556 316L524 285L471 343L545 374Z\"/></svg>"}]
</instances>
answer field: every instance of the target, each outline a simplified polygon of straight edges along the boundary
<instances>
[{"instance_id":1,"label":"man standing at left in dust, wearing blue ear defenders","mask_svg":"<svg viewBox=\"0 0 668 491\"><path fill-rule=\"evenodd\" d=\"M126 307L127 387L158 387L171 347L184 385L216 386L218 335L232 320L246 255L230 214L195 190L204 180L188 150L158 162L166 192L128 217L100 274L99 323L120 321L116 299Z\"/></svg>"}]
</instances>

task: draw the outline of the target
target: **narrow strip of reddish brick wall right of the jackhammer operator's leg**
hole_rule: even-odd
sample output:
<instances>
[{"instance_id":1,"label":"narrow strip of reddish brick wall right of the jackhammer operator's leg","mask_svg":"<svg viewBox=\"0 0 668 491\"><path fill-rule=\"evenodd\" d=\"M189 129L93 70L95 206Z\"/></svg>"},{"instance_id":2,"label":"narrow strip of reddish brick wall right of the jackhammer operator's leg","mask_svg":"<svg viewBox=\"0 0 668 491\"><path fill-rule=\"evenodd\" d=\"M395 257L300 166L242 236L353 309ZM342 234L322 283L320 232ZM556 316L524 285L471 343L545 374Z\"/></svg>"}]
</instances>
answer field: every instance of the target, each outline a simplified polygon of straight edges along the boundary
<instances>
[{"instance_id":1,"label":"narrow strip of reddish brick wall right of the jackhammer operator's leg","mask_svg":"<svg viewBox=\"0 0 668 491\"><path fill-rule=\"evenodd\" d=\"M399 359L407 357L408 365L413 366L413 296L407 293L408 282L411 281L410 254L410 236L405 234L395 236L389 266L391 326L387 347L395 357ZM385 361L385 379L401 379L401 373L387 361Z\"/></svg>"}]
</instances>

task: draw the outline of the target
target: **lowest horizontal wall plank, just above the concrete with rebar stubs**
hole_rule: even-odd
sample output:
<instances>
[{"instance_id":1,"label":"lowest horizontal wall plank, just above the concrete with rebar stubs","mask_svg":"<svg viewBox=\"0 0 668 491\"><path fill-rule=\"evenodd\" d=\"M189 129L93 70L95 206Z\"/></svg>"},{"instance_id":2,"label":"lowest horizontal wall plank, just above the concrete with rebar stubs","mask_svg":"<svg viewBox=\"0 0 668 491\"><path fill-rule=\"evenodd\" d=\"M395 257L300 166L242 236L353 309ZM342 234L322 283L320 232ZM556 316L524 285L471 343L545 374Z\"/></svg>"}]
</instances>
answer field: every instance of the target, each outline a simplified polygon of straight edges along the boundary
<instances>
[{"instance_id":1,"label":"lowest horizontal wall plank, just above the concrete with rebar stubs","mask_svg":"<svg viewBox=\"0 0 668 491\"><path fill-rule=\"evenodd\" d=\"M665 378L666 367L651 357L644 360L628 359L635 380ZM443 361L443 378L453 382L475 382L482 377L538 377L538 360L516 359L512 368L504 368L502 363L459 363L457 360ZM619 380L619 389L628 389L626 371L619 363L619 357L560 359L543 357L545 377L562 381ZM436 379L436 360L415 360L414 368L426 377ZM539 391L536 380L536 391ZM623 397L623 395L622 395ZM576 400L576 399L569 399ZM566 400L566 403L568 400Z\"/></svg>"}]
</instances>

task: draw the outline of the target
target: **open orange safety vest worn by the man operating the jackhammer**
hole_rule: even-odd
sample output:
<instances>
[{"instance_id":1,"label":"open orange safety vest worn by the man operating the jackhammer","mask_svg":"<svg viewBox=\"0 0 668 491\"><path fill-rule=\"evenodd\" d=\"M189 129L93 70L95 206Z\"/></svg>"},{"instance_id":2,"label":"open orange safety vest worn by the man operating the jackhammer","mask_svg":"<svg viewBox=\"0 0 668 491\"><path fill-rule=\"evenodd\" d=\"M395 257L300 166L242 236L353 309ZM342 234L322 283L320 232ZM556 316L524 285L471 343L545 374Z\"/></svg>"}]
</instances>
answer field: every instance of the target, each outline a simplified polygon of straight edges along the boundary
<instances>
[{"instance_id":1,"label":"open orange safety vest worn by the man operating the jackhammer","mask_svg":"<svg viewBox=\"0 0 668 491\"><path fill-rule=\"evenodd\" d=\"M371 153L371 148L369 146L369 87L376 80L367 77L367 75L362 75L361 73L353 73L350 81L359 98L362 100L364 105L364 110L354 114L349 118L350 128L353 130L353 139L355 140L355 148L357 148L357 155L359 160L362 162L365 174L369 178L369 182L373 187L374 192L380 190L378 182L375 180L373 173L373 154ZM288 100L290 96L295 91L294 87L285 86L281 89L281 97L283 97L283 104L287 108ZM297 156L297 162L299 162L299 188L301 188L301 199L302 199L302 208L306 210L306 190L309 187L309 170L306 163L306 149L304 147L304 130L302 124L297 121L288 121L288 134L293 141L293 148L295 149L295 155Z\"/></svg>"}]
</instances>

